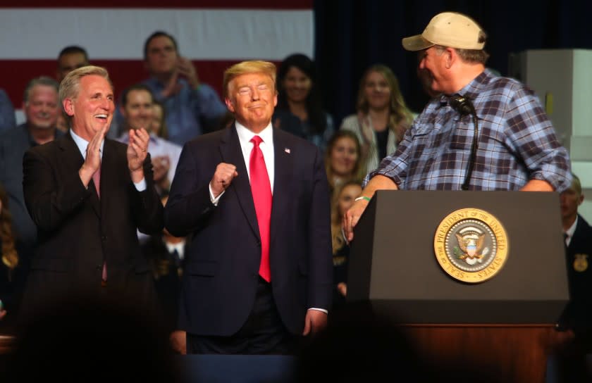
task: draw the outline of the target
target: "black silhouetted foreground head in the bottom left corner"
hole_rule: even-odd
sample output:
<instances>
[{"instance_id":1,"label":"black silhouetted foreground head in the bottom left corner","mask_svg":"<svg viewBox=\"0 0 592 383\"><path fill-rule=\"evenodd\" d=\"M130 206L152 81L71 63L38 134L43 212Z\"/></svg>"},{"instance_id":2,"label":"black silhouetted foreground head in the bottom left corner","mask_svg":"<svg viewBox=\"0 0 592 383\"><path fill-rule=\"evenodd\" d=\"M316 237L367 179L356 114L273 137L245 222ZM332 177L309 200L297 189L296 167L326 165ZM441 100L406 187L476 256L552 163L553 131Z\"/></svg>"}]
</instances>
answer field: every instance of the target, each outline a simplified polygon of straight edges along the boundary
<instances>
[{"instance_id":1,"label":"black silhouetted foreground head in the bottom left corner","mask_svg":"<svg viewBox=\"0 0 592 383\"><path fill-rule=\"evenodd\" d=\"M22 323L2 382L185 382L142 303L75 295Z\"/></svg>"}]
</instances>

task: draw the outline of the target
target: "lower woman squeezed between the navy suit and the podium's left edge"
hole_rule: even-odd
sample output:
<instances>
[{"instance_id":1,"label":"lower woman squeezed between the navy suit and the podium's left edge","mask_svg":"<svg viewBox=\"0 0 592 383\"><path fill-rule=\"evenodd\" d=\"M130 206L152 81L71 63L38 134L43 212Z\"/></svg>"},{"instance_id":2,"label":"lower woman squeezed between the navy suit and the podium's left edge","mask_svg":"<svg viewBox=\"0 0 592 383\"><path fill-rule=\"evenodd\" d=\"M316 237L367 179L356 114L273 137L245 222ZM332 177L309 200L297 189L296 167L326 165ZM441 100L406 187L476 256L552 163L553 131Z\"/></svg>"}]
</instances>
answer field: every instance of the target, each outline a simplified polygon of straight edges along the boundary
<instances>
[{"instance_id":1,"label":"lower woman squeezed between the navy suit and the podium's left edge","mask_svg":"<svg viewBox=\"0 0 592 383\"><path fill-rule=\"evenodd\" d=\"M347 209L362 193L362 185L357 180L350 180L341 185L331 201L331 246L333 248L333 306L345 303L347 294L347 263L350 258L350 246L345 242L341 221Z\"/></svg>"}]
</instances>

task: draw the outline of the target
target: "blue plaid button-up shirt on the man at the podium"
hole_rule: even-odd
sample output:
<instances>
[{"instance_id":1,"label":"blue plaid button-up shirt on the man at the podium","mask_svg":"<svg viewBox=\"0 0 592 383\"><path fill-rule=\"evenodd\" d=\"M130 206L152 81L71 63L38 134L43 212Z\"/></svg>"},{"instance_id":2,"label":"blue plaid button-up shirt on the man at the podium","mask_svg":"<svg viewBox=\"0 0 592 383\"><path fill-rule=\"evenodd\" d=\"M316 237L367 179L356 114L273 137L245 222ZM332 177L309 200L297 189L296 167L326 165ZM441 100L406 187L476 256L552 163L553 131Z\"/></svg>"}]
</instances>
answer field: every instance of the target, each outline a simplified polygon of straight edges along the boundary
<instances>
[{"instance_id":1,"label":"blue plaid button-up shirt on the man at the podium","mask_svg":"<svg viewBox=\"0 0 592 383\"><path fill-rule=\"evenodd\" d=\"M569 155L534 92L485 70L459 93L472 100L479 122L469 190L518 190L529 180L545 180L557 192L569 187ZM462 117L448 96L436 97L366 182L384 175L400 189L460 190L473 136L471 115Z\"/></svg>"}]
</instances>

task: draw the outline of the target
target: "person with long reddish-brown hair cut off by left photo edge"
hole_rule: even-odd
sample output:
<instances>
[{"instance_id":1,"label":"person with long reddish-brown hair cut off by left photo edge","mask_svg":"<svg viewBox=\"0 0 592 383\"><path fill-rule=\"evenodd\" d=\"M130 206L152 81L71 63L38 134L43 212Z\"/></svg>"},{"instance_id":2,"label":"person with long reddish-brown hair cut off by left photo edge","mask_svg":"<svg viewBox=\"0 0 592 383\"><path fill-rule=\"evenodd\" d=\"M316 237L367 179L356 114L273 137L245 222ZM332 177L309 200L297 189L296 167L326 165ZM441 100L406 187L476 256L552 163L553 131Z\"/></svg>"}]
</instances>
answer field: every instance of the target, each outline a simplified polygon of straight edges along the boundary
<instances>
[{"instance_id":1,"label":"person with long reddish-brown hair cut off by left photo edge","mask_svg":"<svg viewBox=\"0 0 592 383\"><path fill-rule=\"evenodd\" d=\"M0 184L0 329L13 331L18 318L20 296L23 294L27 260L20 258L18 241L8 210L8 194Z\"/></svg>"}]
</instances>

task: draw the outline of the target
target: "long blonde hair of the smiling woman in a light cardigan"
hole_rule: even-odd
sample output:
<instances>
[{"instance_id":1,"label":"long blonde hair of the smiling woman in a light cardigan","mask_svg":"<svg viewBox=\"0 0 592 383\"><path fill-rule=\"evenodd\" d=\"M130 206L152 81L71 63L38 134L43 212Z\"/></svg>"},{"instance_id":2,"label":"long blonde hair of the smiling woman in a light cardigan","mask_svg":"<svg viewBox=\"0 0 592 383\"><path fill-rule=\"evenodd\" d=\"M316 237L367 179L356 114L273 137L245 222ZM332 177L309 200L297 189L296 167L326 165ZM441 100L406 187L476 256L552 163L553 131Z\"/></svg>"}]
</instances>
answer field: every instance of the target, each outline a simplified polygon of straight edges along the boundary
<instances>
[{"instance_id":1,"label":"long blonde hair of the smiling woman in a light cardigan","mask_svg":"<svg viewBox=\"0 0 592 383\"><path fill-rule=\"evenodd\" d=\"M369 113L370 105L366 98L366 80L370 73L380 73L388 84L388 89L390 89L388 129L395 133L397 143L401 142L405 135L405 130L411 126L413 115L405 104L405 100L403 99L403 95L399 88L399 80L397 80L397 76L395 76L393 70L390 70L388 66L375 64L364 72L364 75L359 82L357 111L362 112L364 115L368 115Z\"/></svg>"}]
</instances>

